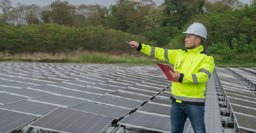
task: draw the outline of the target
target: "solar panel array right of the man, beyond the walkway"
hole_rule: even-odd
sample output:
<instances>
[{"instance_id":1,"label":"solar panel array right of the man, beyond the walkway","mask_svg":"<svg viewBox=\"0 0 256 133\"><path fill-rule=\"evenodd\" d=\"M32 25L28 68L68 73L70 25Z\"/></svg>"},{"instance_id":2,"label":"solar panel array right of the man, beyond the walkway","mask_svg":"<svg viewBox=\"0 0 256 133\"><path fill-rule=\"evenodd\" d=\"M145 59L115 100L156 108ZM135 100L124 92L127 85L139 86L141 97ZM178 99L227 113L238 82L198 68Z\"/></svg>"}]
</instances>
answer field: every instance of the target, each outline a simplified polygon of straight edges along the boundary
<instances>
[{"instance_id":1,"label":"solar panel array right of the man, beyond the walkway","mask_svg":"<svg viewBox=\"0 0 256 133\"><path fill-rule=\"evenodd\" d=\"M215 72L216 85L223 92L225 104L235 124L234 130L256 132L256 95L253 93L252 84L250 85L251 81L244 80L255 79L254 76L230 67L215 67Z\"/></svg>"}]
</instances>

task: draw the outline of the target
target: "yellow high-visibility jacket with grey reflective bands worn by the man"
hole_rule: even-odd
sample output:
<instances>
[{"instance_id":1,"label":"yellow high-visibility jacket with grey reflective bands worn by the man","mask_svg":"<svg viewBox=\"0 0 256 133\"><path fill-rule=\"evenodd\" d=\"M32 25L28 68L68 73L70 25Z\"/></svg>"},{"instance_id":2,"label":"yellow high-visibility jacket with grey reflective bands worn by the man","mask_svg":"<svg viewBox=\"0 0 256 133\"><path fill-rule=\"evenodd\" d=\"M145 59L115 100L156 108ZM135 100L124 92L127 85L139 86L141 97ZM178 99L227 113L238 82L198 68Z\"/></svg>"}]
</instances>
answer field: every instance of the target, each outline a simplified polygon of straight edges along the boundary
<instances>
[{"instance_id":1,"label":"yellow high-visibility jacket with grey reflective bands worn by the man","mask_svg":"<svg viewBox=\"0 0 256 133\"><path fill-rule=\"evenodd\" d=\"M172 100L178 103L204 106L205 83L215 67L214 59L201 46L187 50L168 50L139 44L138 51L167 63L181 73L179 82L172 82Z\"/></svg>"}]
</instances>

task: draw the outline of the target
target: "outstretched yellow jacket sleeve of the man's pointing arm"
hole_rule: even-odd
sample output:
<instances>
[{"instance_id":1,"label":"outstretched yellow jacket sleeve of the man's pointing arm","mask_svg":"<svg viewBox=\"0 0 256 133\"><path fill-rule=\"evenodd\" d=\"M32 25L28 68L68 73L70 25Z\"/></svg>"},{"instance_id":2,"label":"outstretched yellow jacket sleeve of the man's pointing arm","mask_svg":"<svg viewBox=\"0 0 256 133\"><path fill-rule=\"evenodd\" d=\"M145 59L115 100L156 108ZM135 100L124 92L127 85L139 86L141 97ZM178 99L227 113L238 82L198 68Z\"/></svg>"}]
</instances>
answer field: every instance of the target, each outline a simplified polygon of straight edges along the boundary
<instances>
[{"instance_id":1,"label":"outstretched yellow jacket sleeve of the man's pointing arm","mask_svg":"<svg viewBox=\"0 0 256 133\"><path fill-rule=\"evenodd\" d=\"M170 64L174 64L175 62L176 50L151 47L144 44L139 44L139 48L137 50L147 54L148 56L153 56Z\"/></svg>"}]
</instances>

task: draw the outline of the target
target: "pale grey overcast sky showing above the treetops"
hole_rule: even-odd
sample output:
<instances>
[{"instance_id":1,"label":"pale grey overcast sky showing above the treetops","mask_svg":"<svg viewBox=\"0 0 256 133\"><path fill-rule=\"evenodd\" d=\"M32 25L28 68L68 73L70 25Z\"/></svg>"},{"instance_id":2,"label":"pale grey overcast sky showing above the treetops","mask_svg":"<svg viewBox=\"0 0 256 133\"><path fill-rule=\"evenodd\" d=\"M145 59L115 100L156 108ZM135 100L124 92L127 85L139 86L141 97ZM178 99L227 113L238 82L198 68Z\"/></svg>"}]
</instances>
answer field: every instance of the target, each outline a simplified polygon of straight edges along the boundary
<instances>
[{"instance_id":1,"label":"pale grey overcast sky showing above the treetops","mask_svg":"<svg viewBox=\"0 0 256 133\"><path fill-rule=\"evenodd\" d=\"M40 6L45 6L53 2L54 0L11 0L13 2L13 6L16 5L17 2L21 2L24 4L37 4ZM102 4L104 6L110 6L111 4L115 4L116 0L67 0L70 4ZM161 4L164 0L153 0L157 2L157 4ZM240 0L243 3L250 4L251 0Z\"/></svg>"}]
</instances>

